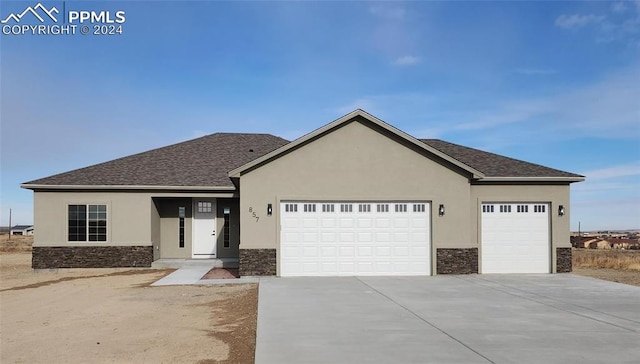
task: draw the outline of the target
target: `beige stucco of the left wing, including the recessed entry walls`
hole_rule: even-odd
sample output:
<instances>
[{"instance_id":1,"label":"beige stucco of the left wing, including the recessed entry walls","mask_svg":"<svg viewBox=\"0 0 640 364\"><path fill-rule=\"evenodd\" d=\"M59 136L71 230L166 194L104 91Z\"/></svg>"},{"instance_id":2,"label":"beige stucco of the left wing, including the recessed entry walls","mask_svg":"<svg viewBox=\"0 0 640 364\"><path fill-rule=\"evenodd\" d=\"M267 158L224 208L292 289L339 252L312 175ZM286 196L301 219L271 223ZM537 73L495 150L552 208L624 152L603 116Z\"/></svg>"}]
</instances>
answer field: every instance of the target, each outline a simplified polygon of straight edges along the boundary
<instances>
[{"instance_id":1,"label":"beige stucco of the left wing, including the recessed entry walls","mask_svg":"<svg viewBox=\"0 0 640 364\"><path fill-rule=\"evenodd\" d=\"M183 197L177 197L183 196ZM231 209L231 246L223 248L220 234L220 257L237 257L240 235L238 199L232 194L184 194L158 192L43 192L34 193L34 222L38 226L34 246L149 246L154 259L192 256L192 196L218 198L218 231L223 231L223 207ZM107 205L107 241L69 242L68 205ZM179 246L178 207L184 206L185 244Z\"/></svg>"}]
</instances>

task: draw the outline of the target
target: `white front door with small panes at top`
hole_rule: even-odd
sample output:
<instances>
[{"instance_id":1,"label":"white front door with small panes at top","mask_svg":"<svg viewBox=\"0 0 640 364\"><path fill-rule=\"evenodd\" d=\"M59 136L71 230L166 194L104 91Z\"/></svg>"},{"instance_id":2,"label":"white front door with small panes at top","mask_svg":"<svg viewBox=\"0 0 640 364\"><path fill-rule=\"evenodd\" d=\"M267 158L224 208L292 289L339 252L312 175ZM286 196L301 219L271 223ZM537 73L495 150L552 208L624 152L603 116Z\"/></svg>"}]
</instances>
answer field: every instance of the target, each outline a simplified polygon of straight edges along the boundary
<instances>
[{"instance_id":1,"label":"white front door with small panes at top","mask_svg":"<svg viewBox=\"0 0 640 364\"><path fill-rule=\"evenodd\" d=\"M193 199L193 258L216 257L216 200Z\"/></svg>"}]
</instances>

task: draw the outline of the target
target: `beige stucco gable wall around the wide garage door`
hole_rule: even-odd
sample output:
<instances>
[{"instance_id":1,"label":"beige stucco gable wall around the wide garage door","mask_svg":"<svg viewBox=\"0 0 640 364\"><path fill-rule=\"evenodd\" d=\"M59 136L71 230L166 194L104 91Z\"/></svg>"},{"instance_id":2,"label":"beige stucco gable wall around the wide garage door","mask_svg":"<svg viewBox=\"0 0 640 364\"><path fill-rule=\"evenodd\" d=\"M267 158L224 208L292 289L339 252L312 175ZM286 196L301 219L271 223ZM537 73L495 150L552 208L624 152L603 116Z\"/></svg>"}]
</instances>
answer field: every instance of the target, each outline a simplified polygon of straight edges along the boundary
<instances>
[{"instance_id":1,"label":"beige stucco gable wall around the wide garage door","mask_svg":"<svg viewBox=\"0 0 640 364\"><path fill-rule=\"evenodd\" d=\"M359 122L243 174L240 191L242 249L279 249L278 210L288 200L431 201L433 245L471 244L468 177Z\"/></svg>"}]
</instances>

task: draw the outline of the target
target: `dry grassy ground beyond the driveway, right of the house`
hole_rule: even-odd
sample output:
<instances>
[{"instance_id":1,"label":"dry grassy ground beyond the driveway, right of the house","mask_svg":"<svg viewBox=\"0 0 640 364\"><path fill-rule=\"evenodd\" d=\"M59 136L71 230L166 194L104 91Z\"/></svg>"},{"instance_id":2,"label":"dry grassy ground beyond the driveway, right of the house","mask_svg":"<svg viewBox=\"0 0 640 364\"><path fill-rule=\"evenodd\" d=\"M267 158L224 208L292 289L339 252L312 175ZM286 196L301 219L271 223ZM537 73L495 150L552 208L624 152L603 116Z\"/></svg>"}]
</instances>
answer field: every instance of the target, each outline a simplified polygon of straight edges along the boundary
<instances>
[{"instance_id":1,"label":"dry grassy ground beyond the driveway, right of the house","mask_svg":"<svg viewBox=\"0 0 640 364\"><path fill-rule=\"evenodd\" d=\"M573 249L573 273L640 286L640 251Z\"/></svg>"}]
</instances>

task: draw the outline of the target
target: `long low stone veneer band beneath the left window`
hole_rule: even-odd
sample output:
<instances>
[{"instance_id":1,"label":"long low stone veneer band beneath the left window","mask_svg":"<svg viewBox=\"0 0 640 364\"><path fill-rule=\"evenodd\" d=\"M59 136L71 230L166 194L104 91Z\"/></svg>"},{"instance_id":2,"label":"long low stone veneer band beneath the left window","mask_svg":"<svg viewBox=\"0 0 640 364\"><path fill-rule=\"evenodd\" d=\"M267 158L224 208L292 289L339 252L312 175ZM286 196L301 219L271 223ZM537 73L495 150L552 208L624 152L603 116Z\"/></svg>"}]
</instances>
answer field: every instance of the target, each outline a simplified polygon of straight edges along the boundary
<instances>
[{"instance_id":1,"label":"long low stone veneer band beneath the left window","mask_svg":"<svg viewBox=\"0 0 640 364\"><path fill-rule=\"evenodd\" d=\"M152 246L34 246L33 269L151 267Z\"/></svg>"}]
</instances>

